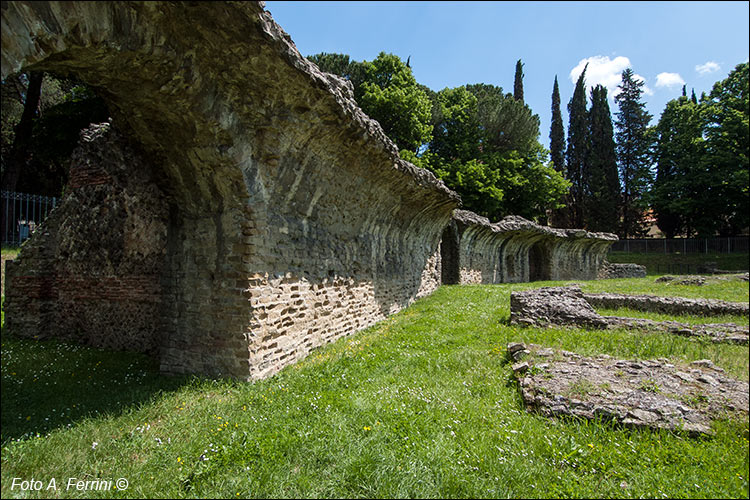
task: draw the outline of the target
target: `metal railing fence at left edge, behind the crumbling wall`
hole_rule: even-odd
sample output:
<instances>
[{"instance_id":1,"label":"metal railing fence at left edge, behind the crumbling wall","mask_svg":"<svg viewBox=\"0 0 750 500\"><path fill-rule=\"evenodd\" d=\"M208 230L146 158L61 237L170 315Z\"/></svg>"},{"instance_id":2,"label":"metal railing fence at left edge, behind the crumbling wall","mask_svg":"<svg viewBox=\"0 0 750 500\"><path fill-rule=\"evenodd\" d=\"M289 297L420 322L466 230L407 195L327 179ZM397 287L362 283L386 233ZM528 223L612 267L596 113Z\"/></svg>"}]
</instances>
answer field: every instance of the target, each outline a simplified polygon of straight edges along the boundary
<instances>
[{"instance_id":1,"label":"metal railing fence at left edge, behind the crumbling wall","mask_svg":"<svg viewBox=\"0 0 750 500\"><path fill-rule=\"evenodd\" d=\"M3 246L18 246L36 230L57 205L58 198L38 194L0 192L0 236Z\"/></svg>"}]
</instances>

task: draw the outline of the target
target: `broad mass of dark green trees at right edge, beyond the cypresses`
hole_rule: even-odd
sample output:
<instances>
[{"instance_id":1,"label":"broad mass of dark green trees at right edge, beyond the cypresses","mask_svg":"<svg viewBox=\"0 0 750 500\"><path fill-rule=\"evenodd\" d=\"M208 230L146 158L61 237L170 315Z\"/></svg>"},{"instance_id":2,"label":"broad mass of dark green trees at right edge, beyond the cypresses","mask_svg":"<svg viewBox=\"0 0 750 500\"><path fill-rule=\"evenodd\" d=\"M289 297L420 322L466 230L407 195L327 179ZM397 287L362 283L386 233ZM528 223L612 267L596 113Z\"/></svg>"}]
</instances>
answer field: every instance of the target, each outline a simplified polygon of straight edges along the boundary
<instances>
[{"instance_id":1,"label":"broad mass of dark green trees at right edge, beyond the cypresses","mask_svg":"<svg viewBox=\"0 0 750 500\"><path fill-rule=\"evenodd\" d=\"M734 235L748 227L748 65L700 102L669 101L656 126L651 204L668 238Z\"/></svg>"}]
</instances>

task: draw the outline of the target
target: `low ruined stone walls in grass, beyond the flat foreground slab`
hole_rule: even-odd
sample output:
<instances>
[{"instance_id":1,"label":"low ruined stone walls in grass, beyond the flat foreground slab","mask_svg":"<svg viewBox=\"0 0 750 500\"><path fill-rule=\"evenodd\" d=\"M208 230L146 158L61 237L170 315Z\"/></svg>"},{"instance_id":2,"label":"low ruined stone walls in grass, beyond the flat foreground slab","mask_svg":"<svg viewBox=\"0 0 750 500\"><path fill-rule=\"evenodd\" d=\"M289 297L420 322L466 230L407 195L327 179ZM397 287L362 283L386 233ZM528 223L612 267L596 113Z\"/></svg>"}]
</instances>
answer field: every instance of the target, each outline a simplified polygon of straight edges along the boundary
<instances>
[{"instance_id":1,"label":"low ruined stone walls in grass, beyond the flat foreground slab","mask_svg":"<svg viewBox=\"0 0 750 500\"><path fill-rule=\"evenodd\" d=\"M511 324L525 326L560 325L595 329L629 328L705 338L713 342L748 344L747 325L734 323L689 325L677 321L602 316L594 310L593 306L626 307L666 314L748 315L747 303L650 295L585 294L580 287L572 285L543 287L511 293L510 319Z\"/></svg>"}]
</instances>

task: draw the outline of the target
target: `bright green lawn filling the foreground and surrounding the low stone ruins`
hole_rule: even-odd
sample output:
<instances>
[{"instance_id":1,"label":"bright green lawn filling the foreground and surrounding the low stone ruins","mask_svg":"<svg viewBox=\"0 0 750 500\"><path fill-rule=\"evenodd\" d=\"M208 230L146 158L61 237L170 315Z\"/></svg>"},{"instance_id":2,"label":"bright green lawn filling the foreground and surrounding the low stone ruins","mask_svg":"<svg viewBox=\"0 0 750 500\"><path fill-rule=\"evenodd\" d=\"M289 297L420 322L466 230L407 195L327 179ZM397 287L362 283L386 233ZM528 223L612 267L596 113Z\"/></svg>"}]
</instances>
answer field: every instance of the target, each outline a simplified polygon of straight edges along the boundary
<instances>
[{"instance_id":1,"label":"bright green lawn filling the foreground and surrounding the low stone ruins","mask_svg":"<svg viewBox=\"0 0 750 500\"><path fill-rule=\"evenodd\" d=\"M653 280L583 288L748 300L744 282ZM747 419L689 438L524 409L511 341L705 358L748 379L747 346L508 324L511 291L552 284L442 287L252 384L162 376L139 355L3 333L2 497L747 498ZM21 491L32 478L41 491ZM128 485L67 489L69 478Z\"/></svg>"}]
</instances>

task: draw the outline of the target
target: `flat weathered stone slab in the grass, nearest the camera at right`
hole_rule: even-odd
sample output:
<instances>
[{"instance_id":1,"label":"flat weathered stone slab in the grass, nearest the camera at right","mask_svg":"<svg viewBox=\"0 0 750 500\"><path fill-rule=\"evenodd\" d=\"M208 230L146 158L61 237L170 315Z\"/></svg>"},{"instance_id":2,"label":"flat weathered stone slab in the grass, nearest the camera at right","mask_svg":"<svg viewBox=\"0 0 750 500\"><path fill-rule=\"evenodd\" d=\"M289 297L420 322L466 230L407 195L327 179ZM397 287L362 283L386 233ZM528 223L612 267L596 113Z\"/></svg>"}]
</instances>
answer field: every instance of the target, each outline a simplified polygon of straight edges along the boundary
<instances>
[{"instance_id":1,"label":"flat weathered stone slab in the grass, nearest the camera at right","mask_svg":"<svg viewBox=\"0 0 750 500\"><path fill-rule=\"evenodd\" d=\"M711 421L747 419L748 382L709 360L689 366L659 360L584 357L567 351L530 357L513 372L527 408L542 415L611 419L633 427L711 434Z\"/></svg>"}]
</instances>

